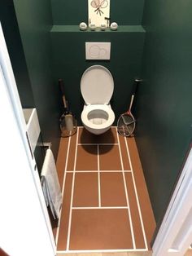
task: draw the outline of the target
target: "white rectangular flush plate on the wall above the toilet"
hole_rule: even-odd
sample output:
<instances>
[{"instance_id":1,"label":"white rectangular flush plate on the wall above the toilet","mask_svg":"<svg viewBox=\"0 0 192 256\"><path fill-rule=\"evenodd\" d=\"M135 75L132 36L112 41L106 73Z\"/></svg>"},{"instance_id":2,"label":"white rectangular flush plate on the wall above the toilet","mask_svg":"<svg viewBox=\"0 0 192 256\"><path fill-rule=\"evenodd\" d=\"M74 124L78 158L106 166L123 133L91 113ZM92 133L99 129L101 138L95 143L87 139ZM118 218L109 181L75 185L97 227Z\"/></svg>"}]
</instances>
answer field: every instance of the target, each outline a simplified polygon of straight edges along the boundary
<instances>
[{"instance_id":1,"label":"white rectangular flush plate on the wall above the toilet","mask_svg":"<svg viewBox=\"0 0 192 256\"><path fill-rule=\"evenodd\" d=\"M110 60L111 42L85 42L86 60Z\"/></svg>"}]
</instances>

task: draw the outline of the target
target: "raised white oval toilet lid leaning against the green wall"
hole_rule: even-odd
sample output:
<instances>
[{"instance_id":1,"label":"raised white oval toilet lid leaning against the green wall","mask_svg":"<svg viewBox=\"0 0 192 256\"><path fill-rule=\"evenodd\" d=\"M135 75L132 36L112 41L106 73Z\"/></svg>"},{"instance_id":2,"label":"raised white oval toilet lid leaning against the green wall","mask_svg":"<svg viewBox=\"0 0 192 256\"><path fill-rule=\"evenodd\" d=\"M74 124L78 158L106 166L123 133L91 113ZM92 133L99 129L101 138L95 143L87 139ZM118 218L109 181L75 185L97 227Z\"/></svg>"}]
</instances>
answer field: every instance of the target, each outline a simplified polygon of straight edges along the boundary
<instances>
[{"instance_id":1,"label":"raised white oval toilet lid leaning against the green wall","mask_svg":"<svg viewBox=\"0 0 192 256\"><path fill-rule=\"evenodd\" d=\"M110 71L101 65L87 68L81 77L81 94L85 104L108 104L113 89L113 77Z\"/></svg>"}]
</instances>

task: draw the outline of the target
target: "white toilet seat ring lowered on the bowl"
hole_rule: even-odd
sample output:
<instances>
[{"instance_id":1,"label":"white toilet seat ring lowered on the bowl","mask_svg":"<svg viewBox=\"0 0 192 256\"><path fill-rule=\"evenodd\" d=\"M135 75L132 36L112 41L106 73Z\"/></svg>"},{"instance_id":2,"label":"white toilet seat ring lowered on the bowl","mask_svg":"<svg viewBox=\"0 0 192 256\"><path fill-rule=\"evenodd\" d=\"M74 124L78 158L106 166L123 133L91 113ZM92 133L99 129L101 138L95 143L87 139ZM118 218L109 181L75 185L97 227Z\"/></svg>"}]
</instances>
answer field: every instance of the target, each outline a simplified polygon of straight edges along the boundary
<instances>
[{"instance_id":1,"label":"white toilet seat ring lowered on the bowl","mask_svg":"<svg viewBox=\"0 0 192 256\"><path fill-rule=\"evenodd\" d=\"M95 123L92 120L90 121L89 115L90 113L96 112L98 114L106 115L106 119L103 121L103 123ZM97 117L96 117L97 118ZM99 119L99 118L98 118ZM100 116L100 119L102 117ZM91 104L85 106L81 113L81 120L83 121L85 126L88 126L91 129L104 129L106 127L109 127L112 125L113 121L115 120L115 114L111 109L110 105L104 105L104 104Z\"/></svg>"}]
</instances>

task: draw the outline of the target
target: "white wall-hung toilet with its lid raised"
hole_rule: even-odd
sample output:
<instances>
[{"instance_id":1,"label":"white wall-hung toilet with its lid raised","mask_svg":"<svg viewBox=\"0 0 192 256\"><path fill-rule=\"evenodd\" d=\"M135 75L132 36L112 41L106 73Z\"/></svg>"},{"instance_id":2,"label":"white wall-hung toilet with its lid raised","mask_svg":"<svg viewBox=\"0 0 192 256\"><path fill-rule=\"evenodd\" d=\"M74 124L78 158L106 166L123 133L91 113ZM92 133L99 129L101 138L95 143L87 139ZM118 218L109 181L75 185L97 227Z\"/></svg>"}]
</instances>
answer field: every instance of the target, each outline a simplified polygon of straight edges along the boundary
<instances>
[{"instance_id":1,"label":"white wall-hung toilet with its lid raised","mask_svg":"<svg viewBox=\"0 0 192 256\"><path fill-rule=\"evenodd\" d=\"M90 66L81 77L81 95L85 100L81 121L85 129L94 135L109 130L115 120L110 105L113 90L113 77L102 65Z\"/></svg>"}]
</instances>

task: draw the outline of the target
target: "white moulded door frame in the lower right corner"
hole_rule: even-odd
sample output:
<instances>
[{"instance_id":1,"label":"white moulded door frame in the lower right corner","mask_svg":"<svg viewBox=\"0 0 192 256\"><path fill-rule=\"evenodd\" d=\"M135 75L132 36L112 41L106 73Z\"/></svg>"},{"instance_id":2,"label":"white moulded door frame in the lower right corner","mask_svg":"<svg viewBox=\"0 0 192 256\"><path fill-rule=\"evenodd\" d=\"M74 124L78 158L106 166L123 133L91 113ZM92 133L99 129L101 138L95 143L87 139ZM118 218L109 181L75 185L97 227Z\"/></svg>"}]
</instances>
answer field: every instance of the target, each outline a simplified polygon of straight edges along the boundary
<instances>
[{"instance_id":1,"label":"white moulded door frame in the lower right corner","mask_svg":"<svg viewBox=\"0 0 192 256\"><path fill-rule=\"evenodd\" d=\"M183 256L192 243L192 148L155 238L154 256Z\"/></svg>"}]
</instances>

